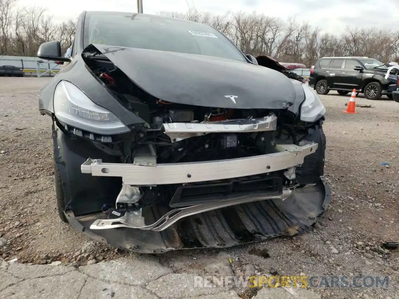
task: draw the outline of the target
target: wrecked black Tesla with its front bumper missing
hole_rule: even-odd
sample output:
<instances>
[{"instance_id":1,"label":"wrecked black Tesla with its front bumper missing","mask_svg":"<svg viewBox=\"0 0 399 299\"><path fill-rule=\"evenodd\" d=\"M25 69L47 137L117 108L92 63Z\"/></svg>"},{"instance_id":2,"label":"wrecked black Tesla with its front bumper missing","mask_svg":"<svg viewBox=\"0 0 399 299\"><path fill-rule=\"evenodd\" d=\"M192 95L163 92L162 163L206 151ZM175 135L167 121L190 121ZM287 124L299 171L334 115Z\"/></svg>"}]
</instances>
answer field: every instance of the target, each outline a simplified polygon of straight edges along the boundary
<instances>
[{"instance_id":1,"label":"wrecked black Tesla with its front bumper missing","mask_svg":"<svg viewBox=\"0 0 399 299\"><path fill-rule=\"evenodd\" d=\"M51 116L59 216L142 253L293 236L330 203L326 109L289 73L218 30L83 12L71 57L39 97Z\"/></svg>"}]
</instances>

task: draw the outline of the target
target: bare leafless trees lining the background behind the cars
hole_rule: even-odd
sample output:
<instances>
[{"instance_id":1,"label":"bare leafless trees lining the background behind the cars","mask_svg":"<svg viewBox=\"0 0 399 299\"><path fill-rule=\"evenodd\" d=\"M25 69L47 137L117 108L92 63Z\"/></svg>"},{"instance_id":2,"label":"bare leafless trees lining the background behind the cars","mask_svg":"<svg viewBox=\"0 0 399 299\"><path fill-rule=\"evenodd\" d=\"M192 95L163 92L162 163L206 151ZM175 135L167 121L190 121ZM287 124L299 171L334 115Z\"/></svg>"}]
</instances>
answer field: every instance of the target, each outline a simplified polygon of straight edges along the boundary
<instances>
[{"instance_id":1,"label":"bare leafless trees lining the background behind the cars","mask_svg":"<svg viewBox=\"0 0 399 299\"><path fill-rule=\"evenodd\" d=\"M66 51L73 43L76 22L55 24L45 8L18 8L18 0L0 0L0 55L34 56L40 43L59 40ZM212 26L243 52L272 56L279 61L313 65L323 56L368 56L382 62L399 61L399 31L377 28L346 28L341 36L322 33L307 22L281 20L264 14L243 12L215 15L194 6L185 13L160 12Z\"/></svg>"}]
</instances>

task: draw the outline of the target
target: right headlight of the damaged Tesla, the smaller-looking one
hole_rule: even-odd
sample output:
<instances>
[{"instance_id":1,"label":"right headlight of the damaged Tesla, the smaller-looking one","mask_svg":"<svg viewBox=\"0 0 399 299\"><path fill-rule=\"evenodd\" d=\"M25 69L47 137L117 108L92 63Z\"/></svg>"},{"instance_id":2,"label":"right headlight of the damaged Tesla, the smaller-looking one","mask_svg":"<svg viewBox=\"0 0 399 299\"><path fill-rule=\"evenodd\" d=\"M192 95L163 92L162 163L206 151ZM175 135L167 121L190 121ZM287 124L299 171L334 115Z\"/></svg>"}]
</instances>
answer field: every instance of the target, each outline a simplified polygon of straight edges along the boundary
<instances>
[{"instance_id":1,"label":"right headlight of the damaged Tesla, the smaller-looking one","mask_svg":"<svg viewBox=\"0 0 399 299\"><path fill-rule=\"evenodd\" d=\"M300 120L314 122L326 114L326 107L306 84L302 84L302 88L305 92L305 101L300 110Z\"/></svg>"}]
</instances>

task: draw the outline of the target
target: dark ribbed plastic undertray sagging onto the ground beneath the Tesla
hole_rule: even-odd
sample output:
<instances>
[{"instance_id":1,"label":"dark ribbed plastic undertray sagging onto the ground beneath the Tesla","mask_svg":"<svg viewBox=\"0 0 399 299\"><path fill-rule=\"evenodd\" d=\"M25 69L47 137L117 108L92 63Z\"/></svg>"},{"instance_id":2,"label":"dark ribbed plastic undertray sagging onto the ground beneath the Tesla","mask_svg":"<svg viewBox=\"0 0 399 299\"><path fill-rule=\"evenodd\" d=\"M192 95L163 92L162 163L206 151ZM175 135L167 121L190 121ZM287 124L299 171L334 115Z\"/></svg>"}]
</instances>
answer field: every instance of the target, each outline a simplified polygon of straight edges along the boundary
<instances>
[{"instance_id":1,"label":"dark ribbed plastic undertray sagging onto the ground beneath the Tesla","mask_svg":"<svg viewBox=\"0 0 399 299\"><path fill-rule=\"evenodd\" d=\"M297 188L284 201L256 201L188 216L163 231L114 228L90 230L101 214L75 218L65 215L79 232L117 248L139 253L160 253L189 248L226 248L278 236L294 236L308 230L331 201L324 178L315 185ZM146 222L153 223L168 210L159 206L143 210Z\"/></svg>"}]
</instances>

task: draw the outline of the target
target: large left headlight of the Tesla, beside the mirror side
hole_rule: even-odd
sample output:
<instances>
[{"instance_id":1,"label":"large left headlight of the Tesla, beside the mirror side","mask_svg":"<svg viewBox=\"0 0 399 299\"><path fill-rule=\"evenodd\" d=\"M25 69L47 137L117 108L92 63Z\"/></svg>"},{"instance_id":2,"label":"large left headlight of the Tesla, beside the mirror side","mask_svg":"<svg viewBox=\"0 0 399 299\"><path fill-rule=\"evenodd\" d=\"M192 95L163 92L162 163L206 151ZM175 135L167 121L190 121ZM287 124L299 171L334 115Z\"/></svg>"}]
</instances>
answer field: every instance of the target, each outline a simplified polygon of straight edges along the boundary
<instances>
[{"instance_id":1,"label":"large left headlight of the Tesla, beside the mirror side","mask_svg":"<svg viewBox=\"0 0 399 299\"><path fill-rule=\"evenodd\" d=\"M130 131L115 114L95 104L82 90L68 81L60 81L55 87L54 113L59 121L96 134Z\"/></svg>"}]
</instances>

